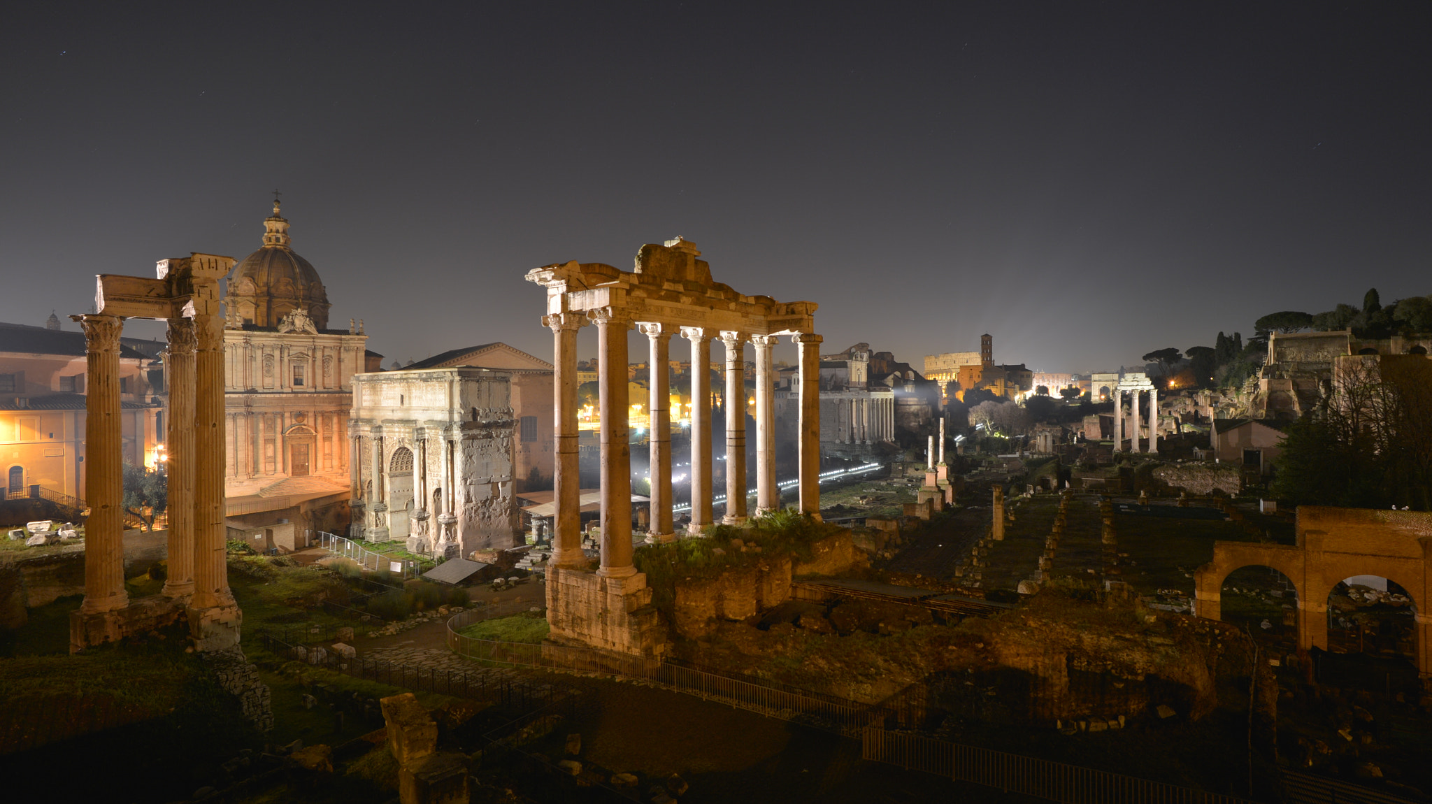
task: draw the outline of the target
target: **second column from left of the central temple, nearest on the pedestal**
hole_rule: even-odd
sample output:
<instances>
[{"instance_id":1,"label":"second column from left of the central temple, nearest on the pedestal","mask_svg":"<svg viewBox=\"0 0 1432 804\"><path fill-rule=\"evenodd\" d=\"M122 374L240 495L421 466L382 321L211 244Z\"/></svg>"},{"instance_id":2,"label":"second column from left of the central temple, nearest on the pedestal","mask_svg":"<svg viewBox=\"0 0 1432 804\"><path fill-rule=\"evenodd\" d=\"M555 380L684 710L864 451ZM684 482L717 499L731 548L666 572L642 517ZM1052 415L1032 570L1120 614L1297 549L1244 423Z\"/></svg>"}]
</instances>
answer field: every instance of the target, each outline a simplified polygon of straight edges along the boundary
<instances>
[{"instance_id":1,"label":"second column from left of the central temple, nearest on the pedestal","mask_svg":"<svg viewBox=\"0 0 1432 804\"><path fill-rule=\"evenodd\" d=\"M601 567L603 578L636 575L632 565L632 443L627 416L627 329L620 310L591 312L597 325L599 398L601 406Z\"/></svg>"}]
</instances>

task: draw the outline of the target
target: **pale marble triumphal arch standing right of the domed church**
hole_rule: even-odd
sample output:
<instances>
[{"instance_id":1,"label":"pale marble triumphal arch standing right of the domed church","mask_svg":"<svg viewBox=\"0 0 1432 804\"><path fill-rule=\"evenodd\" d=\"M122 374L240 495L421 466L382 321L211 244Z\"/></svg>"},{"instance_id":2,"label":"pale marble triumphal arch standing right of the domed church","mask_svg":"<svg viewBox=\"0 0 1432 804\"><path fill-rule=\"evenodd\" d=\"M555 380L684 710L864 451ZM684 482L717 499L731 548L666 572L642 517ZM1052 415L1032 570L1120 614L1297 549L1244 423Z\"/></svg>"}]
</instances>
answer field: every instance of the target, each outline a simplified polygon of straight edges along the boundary
<instances>
[{"instance_id":1,"label":"pale marble triumphal arch standing right of the domed church","mask_svg":"<svg viewBox=\"0 0 1432 804\"><path fill-rule=\"evenodd\" d=\"M510 372L410 369L352 382L357 535L464 557L520 542Z\"/></svg>"}]
</instances>

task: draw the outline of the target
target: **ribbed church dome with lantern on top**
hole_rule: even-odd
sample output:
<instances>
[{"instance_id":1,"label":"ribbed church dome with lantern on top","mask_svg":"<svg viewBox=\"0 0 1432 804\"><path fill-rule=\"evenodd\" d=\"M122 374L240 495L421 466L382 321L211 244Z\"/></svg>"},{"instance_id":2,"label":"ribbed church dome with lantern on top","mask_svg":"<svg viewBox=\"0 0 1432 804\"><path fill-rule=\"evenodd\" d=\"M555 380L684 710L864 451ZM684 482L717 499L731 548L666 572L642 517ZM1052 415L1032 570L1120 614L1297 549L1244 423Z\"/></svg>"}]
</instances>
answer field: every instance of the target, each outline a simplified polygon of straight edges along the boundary
<instances>
[{"instance_id":1,"label":"ribbed church dome with lantern on top","mask_svg":"<svg viewBox=\"0 0 1432 804\"><path fill-rule=\"evenodd\" d=\"M288 220L263 219L263 247L243 258L229 275L228 305L233 326L278 326L288 313L302 309L318 329L328 328L328 290L309 262L289 247Z\"/></svg>"}]
</instances>

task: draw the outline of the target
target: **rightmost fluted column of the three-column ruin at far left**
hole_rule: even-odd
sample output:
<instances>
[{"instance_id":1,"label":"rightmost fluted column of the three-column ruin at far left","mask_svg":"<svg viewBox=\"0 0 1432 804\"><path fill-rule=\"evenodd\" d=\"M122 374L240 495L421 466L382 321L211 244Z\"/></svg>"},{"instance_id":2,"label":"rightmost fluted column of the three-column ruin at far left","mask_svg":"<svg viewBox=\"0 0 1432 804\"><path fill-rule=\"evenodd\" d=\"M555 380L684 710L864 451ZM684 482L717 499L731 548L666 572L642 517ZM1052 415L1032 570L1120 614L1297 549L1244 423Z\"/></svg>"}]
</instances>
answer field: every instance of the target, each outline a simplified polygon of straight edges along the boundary
<instances>
[{"instance_id":1,"label":"rightmost fluted column of the three-column ruin at far left","mask_svg":"<svg viewBox=\"0 0 1432 804\"><path fill-rule=\"evenodd\" d=\"M196 318L195 329L195 552L193 607L232 605L223 529L223 319Z\"/></svg>"}]
</instances>

